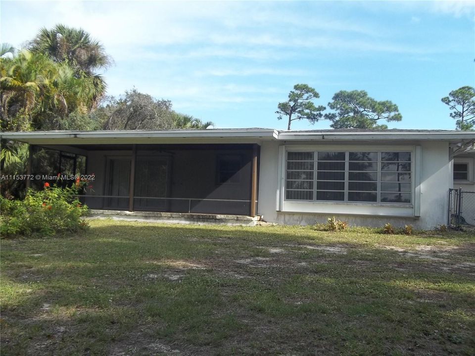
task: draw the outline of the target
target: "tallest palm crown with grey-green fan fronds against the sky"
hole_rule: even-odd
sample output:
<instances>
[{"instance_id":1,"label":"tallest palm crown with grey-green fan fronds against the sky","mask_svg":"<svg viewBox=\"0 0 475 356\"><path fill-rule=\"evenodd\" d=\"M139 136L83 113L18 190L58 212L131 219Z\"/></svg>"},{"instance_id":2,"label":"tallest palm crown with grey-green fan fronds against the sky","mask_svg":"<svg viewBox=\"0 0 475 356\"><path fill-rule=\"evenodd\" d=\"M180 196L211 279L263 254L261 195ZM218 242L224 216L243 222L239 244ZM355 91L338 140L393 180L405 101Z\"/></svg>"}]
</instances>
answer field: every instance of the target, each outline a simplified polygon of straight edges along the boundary
<instances>
[{"instance_id":1,"label":"tallest palm crown with grey-green fan fronds against the sky","mask_svg":"<svg viewBox=\"0 0 475 356\"><path fill-rule=\"evenodd\" d=\"M112 63L105 48L83 29L58 24L51 30L42 28L29 49L49 56L56 63L66 62L75 71L78 79L88 79L93 83L93 106L97 106L105 94L106 83L96 71L106 69Z\"/></svg>"}]
</instances>

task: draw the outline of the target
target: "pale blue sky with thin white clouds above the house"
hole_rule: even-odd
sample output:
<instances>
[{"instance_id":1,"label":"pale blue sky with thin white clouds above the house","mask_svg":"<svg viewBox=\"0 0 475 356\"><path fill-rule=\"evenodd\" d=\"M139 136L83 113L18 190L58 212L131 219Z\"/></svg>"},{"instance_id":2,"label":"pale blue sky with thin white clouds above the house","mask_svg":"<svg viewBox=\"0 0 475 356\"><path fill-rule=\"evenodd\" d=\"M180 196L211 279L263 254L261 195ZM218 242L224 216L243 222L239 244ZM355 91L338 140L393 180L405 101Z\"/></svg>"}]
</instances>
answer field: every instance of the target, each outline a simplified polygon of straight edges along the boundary
<instances>
[{"instance_id":1,"label":"pale blue sky with thin white clouds above the house","mask_svg":"<svg viewBox=\"0 0 475 356\"><path fill-rule=\"evenodd\" d=\"M269 127L294 84L327 105L364 89L399 106L389 128L454 129L440 101L475 86L473 1L1 1L1 42L56 23L114 58L108 93L136 87L218 128ZM292 129L329 128L294 122Z\"/></svg>"}]
</instances>

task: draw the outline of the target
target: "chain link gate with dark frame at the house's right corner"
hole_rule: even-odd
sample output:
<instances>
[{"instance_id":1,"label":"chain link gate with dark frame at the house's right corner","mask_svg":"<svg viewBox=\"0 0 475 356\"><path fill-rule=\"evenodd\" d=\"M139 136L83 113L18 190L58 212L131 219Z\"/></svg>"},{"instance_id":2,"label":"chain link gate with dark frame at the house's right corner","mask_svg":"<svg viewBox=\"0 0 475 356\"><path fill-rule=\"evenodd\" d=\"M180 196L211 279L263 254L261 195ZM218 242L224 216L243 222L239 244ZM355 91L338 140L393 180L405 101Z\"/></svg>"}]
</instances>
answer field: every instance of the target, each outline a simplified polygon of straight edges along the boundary
<instances>
[{"instance_id":1,"label":"chain link gate with dark frame at the house's right corner","mask_svg":"<svg viewBox=\"0 0 475 356\"><path fill-rule=\"evenodd\" d=\"M449 189L448 226L475 226L475 192Z\"/></svg>"}]
</instances>

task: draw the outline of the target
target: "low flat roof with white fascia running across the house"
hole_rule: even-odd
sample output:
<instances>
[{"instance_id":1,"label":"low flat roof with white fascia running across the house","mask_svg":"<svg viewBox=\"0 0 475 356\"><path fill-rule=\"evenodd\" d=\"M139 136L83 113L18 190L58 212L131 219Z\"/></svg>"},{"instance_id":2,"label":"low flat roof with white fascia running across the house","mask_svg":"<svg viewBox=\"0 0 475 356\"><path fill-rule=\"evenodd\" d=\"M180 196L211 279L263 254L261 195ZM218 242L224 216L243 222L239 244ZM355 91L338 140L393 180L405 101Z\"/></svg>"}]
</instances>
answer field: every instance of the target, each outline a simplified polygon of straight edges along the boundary
<instances>
[{"instance_id":1,"label":"low flat roof with white fascia running across the house","mask_svg":"<svg viewBox=\"0 0 475 356\"><path fill-rule=\"evenodd\" d=\"M259 141L380 141L442 140L451 143L475 141L473 131L450 130L290 130L264 128L206 130L99 130L2 132L0 137L30 144L133 144L133 143L250 143Z\"/></svg>"}]
</instances>

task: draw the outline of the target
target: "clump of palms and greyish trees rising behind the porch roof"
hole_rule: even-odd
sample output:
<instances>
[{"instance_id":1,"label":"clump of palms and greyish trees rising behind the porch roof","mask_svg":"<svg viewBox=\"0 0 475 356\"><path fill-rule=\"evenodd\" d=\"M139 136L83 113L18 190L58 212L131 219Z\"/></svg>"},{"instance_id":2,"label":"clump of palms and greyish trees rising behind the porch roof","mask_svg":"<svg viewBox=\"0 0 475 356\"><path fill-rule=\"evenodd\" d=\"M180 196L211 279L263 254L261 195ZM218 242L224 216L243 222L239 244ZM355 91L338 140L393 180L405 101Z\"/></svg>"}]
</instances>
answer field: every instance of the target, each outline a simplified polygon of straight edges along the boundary
<instances>
[{"instance_id":1,"label":"clump of palms and greyish trees rising behind the porch roof","mask_svg":"<svg viewBox=\"0 0 475 356\"><path fill-rule=\"evenodd\" d=\"M1 45L3 131L205 129L211 122L172 109L136 89L106 95L100 71L113 63L83 29L43 28L23 48Z\"/></svg>"}]
</instances>

